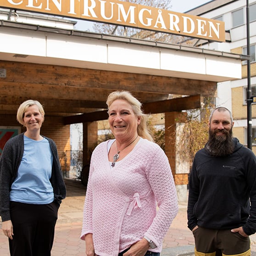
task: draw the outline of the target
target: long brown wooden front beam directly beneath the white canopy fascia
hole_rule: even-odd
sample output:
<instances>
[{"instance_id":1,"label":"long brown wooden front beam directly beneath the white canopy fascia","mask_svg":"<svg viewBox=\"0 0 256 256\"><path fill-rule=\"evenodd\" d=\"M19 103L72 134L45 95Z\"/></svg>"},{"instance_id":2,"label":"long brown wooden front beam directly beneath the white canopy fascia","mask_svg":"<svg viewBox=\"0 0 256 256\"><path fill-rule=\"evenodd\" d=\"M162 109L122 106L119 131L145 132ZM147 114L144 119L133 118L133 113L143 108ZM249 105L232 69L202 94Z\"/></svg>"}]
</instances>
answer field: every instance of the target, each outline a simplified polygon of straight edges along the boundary
<instances>
[{"instance_id":1,"label":"long brown wooden front beam directly beneath the white canopy fascia","mask_svg":"<svg viewBox=\"0 0 256 256\"><path fill-rule=\"evenodd\" d=\"M107 91L126 89L133 92L176 95L200 94L203 96L213 96L217 89L216 82L187 78L12 61L0 61L0 67L7 70L7 77L4 78L4 81L14 84L40 84L42 86L41 92L45 90L44 85L52 85L52 94L56 92L56 86L61 86L64 93L66 88L68 93L68 88L74 87L78 91L83 89L82 92L84 92L84 89L105 89ZM8 86L10 86L10 83ZM104 95L105 100L106 95ZM100 96L98 94L98 97Z\"/></svg>"}]
</instances>

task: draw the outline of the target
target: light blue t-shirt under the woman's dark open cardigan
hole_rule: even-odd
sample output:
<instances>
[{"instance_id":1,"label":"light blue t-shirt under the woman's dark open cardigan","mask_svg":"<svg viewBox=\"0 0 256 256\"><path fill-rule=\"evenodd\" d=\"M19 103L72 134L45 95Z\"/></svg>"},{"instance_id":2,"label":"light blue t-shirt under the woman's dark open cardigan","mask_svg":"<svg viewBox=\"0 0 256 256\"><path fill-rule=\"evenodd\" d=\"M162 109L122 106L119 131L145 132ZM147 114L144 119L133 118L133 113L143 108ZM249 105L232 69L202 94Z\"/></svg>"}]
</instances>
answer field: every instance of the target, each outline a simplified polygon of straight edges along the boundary
<instances>
[{"instance_id":1,"label":"light blue t-shirt under the woman's dark open cardigan","mask_svg":"<svg viewBox=\"0 0 256 256\"><path fill-rule=\"evenodd\" d=\"M54 200L50 183L53 155L47 139L24 135L24 153L17 177L11 185L10 200L27 204L49 204Z\"/></svg>"}]
</instances>

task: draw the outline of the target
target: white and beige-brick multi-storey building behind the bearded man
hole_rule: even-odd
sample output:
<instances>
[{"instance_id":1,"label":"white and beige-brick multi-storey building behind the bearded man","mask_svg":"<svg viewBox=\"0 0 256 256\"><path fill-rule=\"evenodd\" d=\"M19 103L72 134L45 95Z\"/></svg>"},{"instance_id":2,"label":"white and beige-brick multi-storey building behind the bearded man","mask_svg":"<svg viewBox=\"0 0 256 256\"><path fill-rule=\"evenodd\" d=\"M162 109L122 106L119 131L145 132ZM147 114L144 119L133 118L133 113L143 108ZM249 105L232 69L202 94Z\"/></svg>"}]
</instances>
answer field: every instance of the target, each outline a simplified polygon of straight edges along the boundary
<instances>
[{"instance_id":1,"label":"white and beige-brick multi-storey building behind the bearded man","mask_svg":"<svg viewBox=\"0 0 256 256\"><path fill-rule=\"evenodd\" d=\"M250 84L252 95L256 95L256 1L249 0L250 17ZM224 43L207 42L200 45L203 49L229 51L247 54L246 1L213 0L188 13L201 17L221 20L229 40ZM226 106L233 113L234 136L247 145L247 61L241 62L240 79L217 84L216 106ZM228 67L225 68L228 71ZM252 150L256 153L256 104L251 104L252 113Z\"/></svg>"}]
</instances>

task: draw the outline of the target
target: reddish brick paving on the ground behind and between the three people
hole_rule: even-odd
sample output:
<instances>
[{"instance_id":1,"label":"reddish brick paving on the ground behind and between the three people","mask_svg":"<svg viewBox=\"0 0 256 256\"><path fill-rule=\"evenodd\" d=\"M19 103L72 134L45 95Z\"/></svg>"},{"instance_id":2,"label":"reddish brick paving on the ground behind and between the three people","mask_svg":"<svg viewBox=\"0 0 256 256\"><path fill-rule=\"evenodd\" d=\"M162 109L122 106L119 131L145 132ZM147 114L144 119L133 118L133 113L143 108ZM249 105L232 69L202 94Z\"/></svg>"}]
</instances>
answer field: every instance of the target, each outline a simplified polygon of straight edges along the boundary
<instances>
[{"instance_id":1,"label":"reddish brick paving on the ground behind and between the three people","mask_svg":"<svg viewBox=\"0 0 256 256\"><path fill-rule=\"evenodd\" d=\"M56 223L51 256L85 256L85 242L80 237L85 188L80 181L65 180L67 198L63 200ZM1 223L0 223L1 228ZM256 256L256 235L250 236L251 256ZM179 203L179 211L163 241L162 255L192 256L194 237L187 228L186 202ZM0 230L0 256L10 256L8 239Z\"/></svg>"}]
</instances>

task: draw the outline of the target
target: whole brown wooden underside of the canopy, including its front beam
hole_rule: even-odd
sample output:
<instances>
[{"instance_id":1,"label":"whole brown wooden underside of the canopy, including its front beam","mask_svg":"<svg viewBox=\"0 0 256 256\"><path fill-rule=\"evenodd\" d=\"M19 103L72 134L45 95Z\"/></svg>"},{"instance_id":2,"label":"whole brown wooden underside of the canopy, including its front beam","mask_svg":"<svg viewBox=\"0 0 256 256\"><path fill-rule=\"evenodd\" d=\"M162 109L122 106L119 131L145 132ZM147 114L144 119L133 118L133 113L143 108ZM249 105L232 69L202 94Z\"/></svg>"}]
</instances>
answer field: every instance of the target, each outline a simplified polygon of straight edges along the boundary
<instances>
[{"instance_id":1,"label":"whole brown wooden underside of the canopy, including its front beam","mask_svg":"<svg viewBox=\"0 0 256 256\"><path fill-rule=\"evenodd\" d=\"M0 61L0 113L16 114L25 100L39 100L47 115L73 116L106 109L115 90L128 90L143 104L171 95L214 96L217 83L127 72ZM150 105L148 105L150 106ZM156 105L152 105L155 107Z\"/></svg>"}]
</instances>

